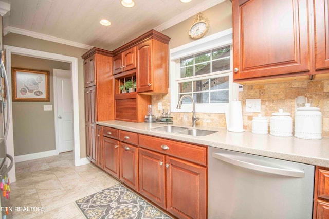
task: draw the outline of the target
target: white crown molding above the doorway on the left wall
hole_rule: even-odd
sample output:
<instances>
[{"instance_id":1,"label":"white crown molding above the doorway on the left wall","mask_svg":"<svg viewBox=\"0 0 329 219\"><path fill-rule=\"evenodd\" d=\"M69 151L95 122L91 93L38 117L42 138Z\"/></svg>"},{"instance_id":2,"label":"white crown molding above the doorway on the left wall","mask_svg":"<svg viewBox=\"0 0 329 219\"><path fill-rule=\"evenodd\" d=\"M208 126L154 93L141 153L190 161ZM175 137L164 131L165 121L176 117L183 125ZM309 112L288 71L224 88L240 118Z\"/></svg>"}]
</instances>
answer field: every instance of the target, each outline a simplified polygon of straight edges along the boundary
<instances>
[{"instance_id":1,"label":"white crown molding above the doorway on the left wall","mask_svg":"<svg viewBox=\"0 0 329 219\"><path fill-rule=\"evenodd\" d=\"M93 46L89 46L89 45L86 45L86 44L77 43L77 42L74 42L74 41L69 41L69 40L65 40L65 39L62 39L62 38L57 38L55 36L50 36L50 35L37 33L37 32L33 32L33 31L29 31L29 30L23 30L23 29L16 28L16 27L10 27L10 26L5 27L4 28L4 35L7 35L8 33L16 33L16 34L31 36L33 38L38 38L38 39L41 39L41 40L47 40L47 41L51 41L51 42L61 43L61 44L69 45L69 46L82 48L82 49L88 49L89 50L89 49L93 48Z\"/></svg>"}]
</instances>

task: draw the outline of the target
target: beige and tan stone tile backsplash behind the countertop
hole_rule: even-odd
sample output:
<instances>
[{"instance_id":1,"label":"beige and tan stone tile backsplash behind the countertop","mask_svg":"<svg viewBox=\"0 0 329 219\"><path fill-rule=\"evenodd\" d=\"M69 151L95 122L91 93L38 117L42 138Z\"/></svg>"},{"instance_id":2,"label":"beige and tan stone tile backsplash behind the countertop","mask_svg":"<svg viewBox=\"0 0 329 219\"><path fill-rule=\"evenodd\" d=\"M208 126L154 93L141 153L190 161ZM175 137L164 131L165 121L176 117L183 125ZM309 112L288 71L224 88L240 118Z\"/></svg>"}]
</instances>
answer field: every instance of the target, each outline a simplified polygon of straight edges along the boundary
<instances>
[{"instance_id":1,"label":"beige and tan stone tile backsplash behind the countertop","mask_svg":"<svg viewBox=\"0 0 329 219\"><path fill-rule=\"evenodd\" d=\"M291 113L295 118L295 98L297 96L307 97L307 102L311 106L319 107L322 113L322 136L329 137L329 80L305 80L293 82L281 82L271 84L244 85L243 92L239 93L239 100L242 103L243 126L245 130L251 131L251 121L254 116L262 114L266 116L268 121L273 112L283 109L284 112ZM261 112L246 112L246 99L261 99ZM162 102L162 106L170 108L170 94L153 95L152 105L153 112L156 116L160 116L157 111L158 103ZM192 113L172 113L174 124L192 125ZM226 127L225 114L215 113L197 113L200 117L197 125L209 127Z\"/></svg>"}]
</instances>

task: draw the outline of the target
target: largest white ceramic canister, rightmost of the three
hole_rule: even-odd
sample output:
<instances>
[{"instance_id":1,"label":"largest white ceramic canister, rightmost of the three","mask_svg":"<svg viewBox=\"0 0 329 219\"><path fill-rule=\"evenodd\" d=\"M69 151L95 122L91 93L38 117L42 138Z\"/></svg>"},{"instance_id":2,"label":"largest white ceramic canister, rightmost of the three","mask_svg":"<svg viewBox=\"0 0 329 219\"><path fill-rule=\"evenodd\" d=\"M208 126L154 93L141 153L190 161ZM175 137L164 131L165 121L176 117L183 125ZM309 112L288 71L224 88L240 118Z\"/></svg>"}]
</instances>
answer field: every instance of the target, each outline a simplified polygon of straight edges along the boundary
<instances>
[{"instance_id":1,"label":"largest white ceramic canister, rightmost of the three","mask_svg":"<svg viewBox=\"0 0 329 219\"><path fill-rule=\"evenodd\" d=\"M306 103L305 107L297 108L295 137L313 140L322 138L322 113L320 108L311 107L309 103Z\"/></svg>"}]
</instances>

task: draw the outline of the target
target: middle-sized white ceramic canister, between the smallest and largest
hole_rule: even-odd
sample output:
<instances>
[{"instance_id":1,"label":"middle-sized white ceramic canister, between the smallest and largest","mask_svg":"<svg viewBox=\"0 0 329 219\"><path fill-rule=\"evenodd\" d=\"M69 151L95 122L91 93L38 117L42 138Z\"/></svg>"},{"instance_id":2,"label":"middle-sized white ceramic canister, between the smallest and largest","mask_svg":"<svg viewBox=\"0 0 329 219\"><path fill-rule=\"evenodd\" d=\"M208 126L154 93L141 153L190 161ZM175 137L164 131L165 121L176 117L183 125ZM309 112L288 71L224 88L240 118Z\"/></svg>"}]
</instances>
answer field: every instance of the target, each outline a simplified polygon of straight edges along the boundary
<instances>
[{"instance_id":1,"label":"middle-sized white ceramic canister, between the smallest and largest","mask_svg":"<svg viewBox=\"0 0 329 219\"><path fill-rule=\"evenodd\" d=\"M272 113L269 134L280 137L293 136L293 118L291 118L290 113L283 112L283 109Z\"/></svg>"}]
</instances>

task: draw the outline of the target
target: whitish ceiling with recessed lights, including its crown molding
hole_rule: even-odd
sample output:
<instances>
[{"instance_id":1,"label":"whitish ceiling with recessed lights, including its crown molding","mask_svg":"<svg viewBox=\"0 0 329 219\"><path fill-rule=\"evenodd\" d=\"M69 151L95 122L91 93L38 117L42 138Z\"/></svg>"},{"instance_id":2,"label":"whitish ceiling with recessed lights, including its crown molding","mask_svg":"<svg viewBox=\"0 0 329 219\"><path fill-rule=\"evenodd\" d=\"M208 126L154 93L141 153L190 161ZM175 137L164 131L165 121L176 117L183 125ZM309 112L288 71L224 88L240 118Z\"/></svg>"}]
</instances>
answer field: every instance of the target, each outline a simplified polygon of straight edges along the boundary
<instances>
[{"instance_id":1,"label":"whitish ceiling with recessed lights, including its crown molding","mask_svg":"<svg viewBox=\"0 0 329 219\"><path fill-rule=\"evenodd\" d=\"M114 50L155 29L159 32L224 0L2 0L10 4L3 16L4 34L19 33L80 48ZM102 26L101 19L112 25Z\"/></svg>"}]
</instances>

